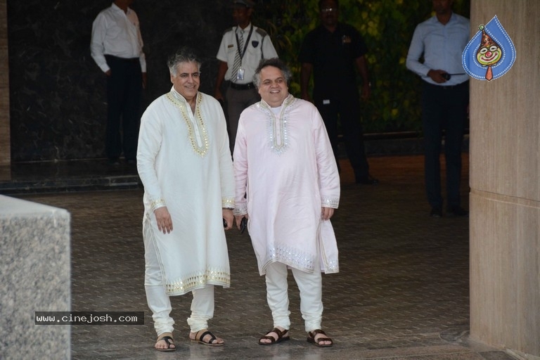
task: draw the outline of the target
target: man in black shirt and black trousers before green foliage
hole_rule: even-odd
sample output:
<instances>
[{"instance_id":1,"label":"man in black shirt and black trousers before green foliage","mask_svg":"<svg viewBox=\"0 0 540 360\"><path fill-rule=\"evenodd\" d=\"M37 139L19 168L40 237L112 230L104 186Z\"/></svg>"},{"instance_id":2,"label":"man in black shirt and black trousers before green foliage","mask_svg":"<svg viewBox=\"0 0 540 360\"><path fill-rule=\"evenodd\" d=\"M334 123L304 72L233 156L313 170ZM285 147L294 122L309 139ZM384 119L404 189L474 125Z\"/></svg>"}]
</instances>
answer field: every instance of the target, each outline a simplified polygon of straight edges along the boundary
<instances>
[{"instance_id":1,"label":"man in black shirt and black trousers before green foliage","mask_svg":"<svg viewBox=\"0 0 540 360\"><path fill-rule=\"evenodd\" d=\"M369 174L360 120L360 94L356 70L362 77L361 97L370 95L367 52L359 32L338 22L338 0L319 1L321 25L307 34L300 49L300 89L302 98L311 101L309 78L314 74L313 102L326 124L334 155L338 150L338 119L341 123L345 150L358 184L377 184Z\"/></svg>"}]
</instances>

